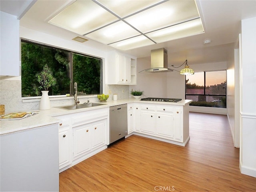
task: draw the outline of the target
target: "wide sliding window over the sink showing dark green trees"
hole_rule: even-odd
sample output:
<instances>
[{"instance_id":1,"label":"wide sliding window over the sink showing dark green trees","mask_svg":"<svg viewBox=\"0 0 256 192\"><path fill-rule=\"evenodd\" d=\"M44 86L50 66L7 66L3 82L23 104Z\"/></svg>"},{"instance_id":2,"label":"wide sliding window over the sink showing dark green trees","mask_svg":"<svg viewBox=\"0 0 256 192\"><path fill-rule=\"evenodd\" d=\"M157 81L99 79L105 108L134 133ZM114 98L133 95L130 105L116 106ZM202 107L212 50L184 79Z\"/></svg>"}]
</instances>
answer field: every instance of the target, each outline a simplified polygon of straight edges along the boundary
<instances>
[{"instance_id":1,"label":"wide sliding window over the sink showing dark green trees","mask_svg":"<svg viewBox=\"0 0 256 192\"><path fill-rule=\"evenodd\" d=\"M56 84L49 88L49 96L74 93L102 94L102 59L53 46L21 40L22 97L40 96L36 74L45 64L50 68Z\"/></svg>"}]
</instances>

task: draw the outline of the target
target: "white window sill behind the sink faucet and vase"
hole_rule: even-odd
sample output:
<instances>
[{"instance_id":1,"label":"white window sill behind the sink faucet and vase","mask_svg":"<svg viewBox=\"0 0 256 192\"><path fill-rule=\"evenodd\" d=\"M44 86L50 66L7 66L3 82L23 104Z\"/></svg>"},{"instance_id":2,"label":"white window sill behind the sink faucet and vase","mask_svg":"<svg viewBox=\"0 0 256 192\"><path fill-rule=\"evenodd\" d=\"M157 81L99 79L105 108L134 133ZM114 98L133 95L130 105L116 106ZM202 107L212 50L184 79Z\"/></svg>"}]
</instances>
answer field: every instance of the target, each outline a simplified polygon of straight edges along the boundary
<instances>
[{"instance_id":1,"label":"white window sill behind the sink faucet and vase","mask_svg":"<svg viewBox=\"0 0 256 192\"><path fill-rule=\"evenodd\" d=\"M97 95L81 95L77 96L77 98L93 98L97 97ZM58 96L49 96L50 101L53 100L68 100L68 99L74 99L74 96L66 96L66 95L58 95ZM28 103L28 102L39 102L41 99L41 96L36 97L22 97L22 103Z\"/></svg>"}]
</instances>

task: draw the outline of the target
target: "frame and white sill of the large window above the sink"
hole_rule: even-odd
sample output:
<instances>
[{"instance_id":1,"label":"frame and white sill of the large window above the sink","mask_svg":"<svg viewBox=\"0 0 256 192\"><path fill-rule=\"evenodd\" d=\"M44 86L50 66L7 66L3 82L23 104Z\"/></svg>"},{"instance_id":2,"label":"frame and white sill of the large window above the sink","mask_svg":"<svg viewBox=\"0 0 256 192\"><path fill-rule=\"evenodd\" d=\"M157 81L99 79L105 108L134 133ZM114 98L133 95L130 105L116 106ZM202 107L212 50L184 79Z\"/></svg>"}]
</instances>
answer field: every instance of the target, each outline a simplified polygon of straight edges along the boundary
<instances>
[{"instance_id":1,"label":"frame and white sill of the large window above the sink","mask_svg":"<svg viewBox=\"0 0 256 192\"><path fill-rule=\"evenodd\" d=\"M89 54L85 54L85 53L82 53L82 52L78 52L78 51L74 51L74 50L70 50L70 49L65 49L65 48L61 48L61 47L58 47L58 46L53 46L53 45L49 45L49 44L44 44L44 43L41 43L41 42L36 42L36 41L32 41L32 40L28 40L28 39L25 39L25 38L20 38L20 51L21 51L21 43L22 42L26 42L26 43L33 43L33 44L37 44L38 46L45 46L47 48L53 48L53 49L58 49L58 50L63 50L63 51L66 51L66 52L69 52L70 54L70 73L69 73L69 78L70 78L70 95L69 96L74 96L73 92L74 92L74 87L72 86L73 85L73 54L79 54L81 56L85 56L85 57L89 57L89 58L95 58L95 59L98 59L100 60L100 93L99 94L102 94L103 92L103 58L100 58L100 57L97 57L97 56L92 56L92 55L89 55ZM20 54L21 55L21 54ZM80 94L78 95L79 97L93 97L93 96L97 96L98 94ZM66 99L70 99L69 96L67 95L49 95L49 98L66 98ZM41 96L30 96L30 97L22 97L22 102L26 102L26 100L33 100L35 99L34 101L38 101L37 99L38 98L41 98Z\"/></svg>"}]
</instances>

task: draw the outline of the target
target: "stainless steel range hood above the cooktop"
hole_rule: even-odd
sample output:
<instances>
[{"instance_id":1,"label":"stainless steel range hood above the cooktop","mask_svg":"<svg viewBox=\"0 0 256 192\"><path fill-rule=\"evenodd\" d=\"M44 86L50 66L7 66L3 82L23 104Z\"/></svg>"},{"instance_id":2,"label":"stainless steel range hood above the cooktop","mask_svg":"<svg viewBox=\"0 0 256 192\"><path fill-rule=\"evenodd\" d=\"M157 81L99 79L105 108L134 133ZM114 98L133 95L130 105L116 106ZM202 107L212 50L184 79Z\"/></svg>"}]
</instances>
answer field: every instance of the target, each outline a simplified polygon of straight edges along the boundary
<instances>
[{"instance_id":1,"label":"stainless steel range hood above the cooktop","mask_svg":"<svg viewBox=\"0 0 256 192\"><path fill-rule=\"evenodd\" d=\"M151 50L151 68L140 72L172 72L168 68L168 54L165 48ZM139 73L140 73L139 72Z\"/></svg>"}]
</instances>

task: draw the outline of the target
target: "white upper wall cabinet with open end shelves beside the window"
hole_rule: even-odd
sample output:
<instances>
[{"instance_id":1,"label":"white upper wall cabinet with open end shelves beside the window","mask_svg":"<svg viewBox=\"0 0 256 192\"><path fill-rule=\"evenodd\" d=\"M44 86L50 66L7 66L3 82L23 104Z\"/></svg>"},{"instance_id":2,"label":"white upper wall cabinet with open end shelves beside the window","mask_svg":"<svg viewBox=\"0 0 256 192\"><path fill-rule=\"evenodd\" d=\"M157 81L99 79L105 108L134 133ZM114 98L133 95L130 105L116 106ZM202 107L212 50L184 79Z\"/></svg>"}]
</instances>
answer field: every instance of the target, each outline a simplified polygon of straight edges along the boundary
<instances>
[{"instance_id":1,"label":"white upper wall cabinet with open end shelves beside the window","mask_svg":"<svg viewBox=\"0 0 256 192\"><path fill-rule=\"evenodd\" d=\"M136 58L120 52L110 52L106 66L107 84L136 84Z\"/></svg>"}]
</instances>

